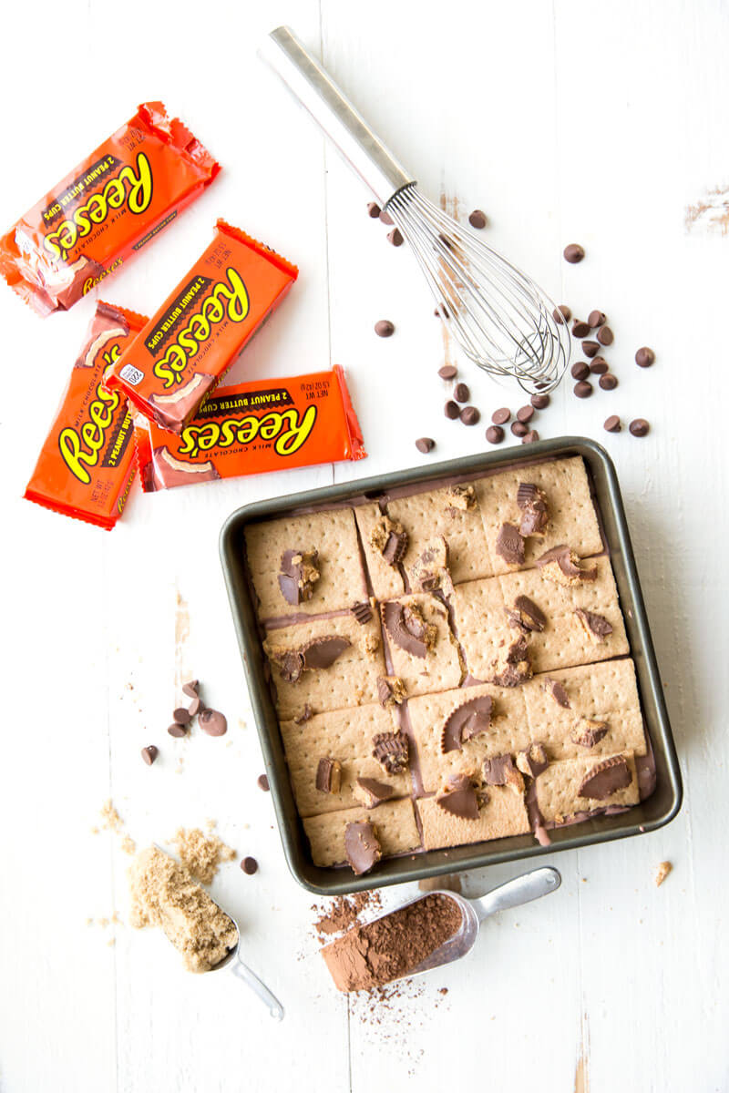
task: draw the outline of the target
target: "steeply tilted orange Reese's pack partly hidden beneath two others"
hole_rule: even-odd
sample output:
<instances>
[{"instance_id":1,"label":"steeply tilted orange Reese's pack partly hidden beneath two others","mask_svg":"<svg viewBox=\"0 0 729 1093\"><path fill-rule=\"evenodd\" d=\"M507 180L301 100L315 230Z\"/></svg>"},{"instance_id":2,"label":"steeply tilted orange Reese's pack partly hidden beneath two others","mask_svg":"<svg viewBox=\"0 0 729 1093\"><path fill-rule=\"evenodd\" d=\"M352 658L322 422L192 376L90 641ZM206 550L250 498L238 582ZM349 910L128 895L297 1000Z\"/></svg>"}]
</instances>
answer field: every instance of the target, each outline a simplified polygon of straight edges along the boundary
<instances>
[{"instance_id":1,"label":"steeply tilted orange Reese's pack partly hidden beneath two others","mask_svg":"<svg viewBox=\"0 0 729 1093\"><path fill-rule=\"evenodd\" d=\"M121 516L136 472L132 418L127 400L102 380L145 322L145 315L101 301L96 305L25 490L28 501L107 530Z\"/></svg>"}]
</instances>

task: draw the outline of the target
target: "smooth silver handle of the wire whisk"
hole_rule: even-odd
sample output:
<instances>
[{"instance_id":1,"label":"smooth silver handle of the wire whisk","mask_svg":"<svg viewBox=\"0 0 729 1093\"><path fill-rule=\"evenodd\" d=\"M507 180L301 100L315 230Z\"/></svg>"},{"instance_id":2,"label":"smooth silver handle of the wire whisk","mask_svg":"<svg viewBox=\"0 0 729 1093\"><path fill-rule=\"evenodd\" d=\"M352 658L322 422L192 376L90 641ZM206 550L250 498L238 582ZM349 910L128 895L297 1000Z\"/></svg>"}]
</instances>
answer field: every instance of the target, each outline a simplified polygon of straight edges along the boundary
<instances>
[{"instance_id":1,"label":"smooth silver handle of the wire whisk","mask_svg":"<svg viewBox=\"0 0 729 1093\"><path fill-rule=\"evenodd\" d=\"M381 205L414 181L287 26L272 31L261 43L259 54Z\"/></svg>"}]
</instances>

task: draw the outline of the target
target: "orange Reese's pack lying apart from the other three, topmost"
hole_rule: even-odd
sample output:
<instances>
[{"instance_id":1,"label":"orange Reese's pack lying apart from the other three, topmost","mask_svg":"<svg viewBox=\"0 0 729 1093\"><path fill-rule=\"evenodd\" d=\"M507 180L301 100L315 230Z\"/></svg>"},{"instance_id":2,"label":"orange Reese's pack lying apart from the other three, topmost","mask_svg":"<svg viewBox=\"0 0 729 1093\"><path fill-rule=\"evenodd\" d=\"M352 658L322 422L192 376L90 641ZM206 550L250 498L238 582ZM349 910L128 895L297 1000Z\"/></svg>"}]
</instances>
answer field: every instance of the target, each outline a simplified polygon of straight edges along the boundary
<instances>
[{"instance_id":1,"label":"orange Reese's pack lying apart from the other three, topmost","mask_svg":"<svg viewBox=\"0 0 729 1093\"><path fill-rule=\"evenodd\" d=\"M68 310L154 239L219 171L162 103L142 103L0 237L0 273L39 315Z\"/></svg>"}]
</instances>

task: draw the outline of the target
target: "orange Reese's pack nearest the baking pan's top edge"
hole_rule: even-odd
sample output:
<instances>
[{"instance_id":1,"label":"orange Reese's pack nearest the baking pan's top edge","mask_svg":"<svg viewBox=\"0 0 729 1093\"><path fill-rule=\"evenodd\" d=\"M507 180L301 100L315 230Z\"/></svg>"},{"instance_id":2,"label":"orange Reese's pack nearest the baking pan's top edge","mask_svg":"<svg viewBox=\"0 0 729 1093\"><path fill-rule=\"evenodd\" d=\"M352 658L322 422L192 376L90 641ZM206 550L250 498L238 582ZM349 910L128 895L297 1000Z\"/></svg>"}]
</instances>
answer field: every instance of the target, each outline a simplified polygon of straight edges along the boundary
<instances>
[{"instance_id":1,"label":"orange Reese's pack nearest the baking pan's top edge","mask_svg":"<svg viewBox=\"0 0 729 1093\"><path fill-rule=\"evenodd\" d=\"M179 436L136 414L134 436L146 493L367 455L339 366L220 387Z\"/></svg>"}]
</instances>

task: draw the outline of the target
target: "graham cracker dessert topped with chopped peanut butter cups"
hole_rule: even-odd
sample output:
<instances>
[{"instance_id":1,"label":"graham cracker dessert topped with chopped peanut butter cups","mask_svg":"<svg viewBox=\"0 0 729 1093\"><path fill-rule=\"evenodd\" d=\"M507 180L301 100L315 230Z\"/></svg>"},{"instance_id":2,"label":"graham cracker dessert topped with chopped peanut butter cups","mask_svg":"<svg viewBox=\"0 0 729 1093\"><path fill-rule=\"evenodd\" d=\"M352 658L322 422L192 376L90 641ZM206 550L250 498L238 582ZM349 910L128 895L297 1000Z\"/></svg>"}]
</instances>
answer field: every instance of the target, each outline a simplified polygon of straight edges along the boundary
<instances>
[{"instance_id":1,"label":"graham cracker dessert topped with chopped peanut butter cups","mask_svg":"<svg viewBox=\"0 0 729 1093\"><path fill-rule=\"evenodd\" d=\"M580 457L246 528L317 866L549 830L655 787Z\"/></svg>"}]
</instances>

